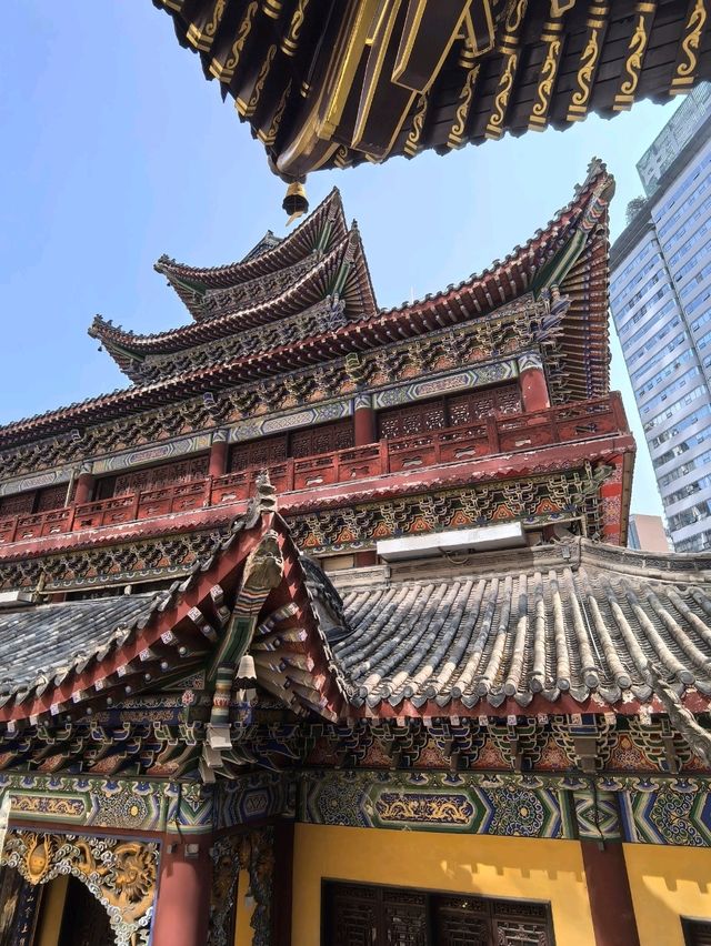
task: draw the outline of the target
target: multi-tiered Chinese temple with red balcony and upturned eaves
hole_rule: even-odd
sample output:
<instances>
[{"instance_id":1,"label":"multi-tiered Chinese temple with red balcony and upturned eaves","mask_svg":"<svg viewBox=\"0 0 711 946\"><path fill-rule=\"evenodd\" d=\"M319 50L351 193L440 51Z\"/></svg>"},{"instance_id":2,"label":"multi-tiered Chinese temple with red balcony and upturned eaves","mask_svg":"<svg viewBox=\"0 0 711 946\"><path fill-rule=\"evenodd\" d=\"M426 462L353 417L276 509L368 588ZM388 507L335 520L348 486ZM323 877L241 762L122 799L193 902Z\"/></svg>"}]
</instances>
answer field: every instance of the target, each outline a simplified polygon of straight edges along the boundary
<instances>
[{"instance_id":1,"label":"multi-tiered Chinese temple with red balcony and upturned eaves","mask_svg":"<svg viewBox=\"0 0 711 946\"><path fill-rule=\"evenodd\" d=\"M338 191L0 429L0 946L711 930L711 557L624 547L593 161L378 306ZM704 938L705 937L705 938Z\"/></svg>"}]
</instances>

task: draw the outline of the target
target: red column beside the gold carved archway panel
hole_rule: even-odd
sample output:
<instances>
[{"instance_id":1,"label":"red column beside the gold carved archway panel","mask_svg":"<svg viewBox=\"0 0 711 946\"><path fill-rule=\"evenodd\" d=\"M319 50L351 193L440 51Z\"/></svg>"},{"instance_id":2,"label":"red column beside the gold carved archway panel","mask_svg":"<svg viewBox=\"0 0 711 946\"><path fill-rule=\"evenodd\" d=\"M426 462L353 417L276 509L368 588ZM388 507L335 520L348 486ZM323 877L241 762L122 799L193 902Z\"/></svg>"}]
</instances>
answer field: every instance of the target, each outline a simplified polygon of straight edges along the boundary
<instances>
[{"instance_id":1,"label":"red column beside the gold carved archway panel","mask_svg":"<svg viewBox=\"0 0 711 946\"><path fill-rule=\"evenodd\" d=\"M151 946L204 946L211 886L210 838L191 837L183 843L169 836L160 858Z\"/></svg>"}]
</instances>

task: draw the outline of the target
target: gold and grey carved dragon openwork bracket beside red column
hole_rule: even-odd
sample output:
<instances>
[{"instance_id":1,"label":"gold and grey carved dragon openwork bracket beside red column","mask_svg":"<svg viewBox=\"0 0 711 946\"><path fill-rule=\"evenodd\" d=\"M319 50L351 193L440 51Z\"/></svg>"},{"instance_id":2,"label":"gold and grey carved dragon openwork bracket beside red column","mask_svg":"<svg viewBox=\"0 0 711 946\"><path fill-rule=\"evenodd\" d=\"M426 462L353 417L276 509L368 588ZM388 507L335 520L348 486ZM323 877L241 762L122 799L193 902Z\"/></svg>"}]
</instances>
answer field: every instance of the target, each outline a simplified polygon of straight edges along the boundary
<instances>
[{"instance_id":1,"label":"gold and grey carved dragon openwork bracket beside red column","mask_svg":"<svg viewBox=\"0 0 711 946\"><path fill-rule=\"evenodd\" d=\"M109 914L116 946L147 946L158 877L158 845L112 837L8 832L0 864L32 885L71 874Z\"/></svg>"}]
</instances>

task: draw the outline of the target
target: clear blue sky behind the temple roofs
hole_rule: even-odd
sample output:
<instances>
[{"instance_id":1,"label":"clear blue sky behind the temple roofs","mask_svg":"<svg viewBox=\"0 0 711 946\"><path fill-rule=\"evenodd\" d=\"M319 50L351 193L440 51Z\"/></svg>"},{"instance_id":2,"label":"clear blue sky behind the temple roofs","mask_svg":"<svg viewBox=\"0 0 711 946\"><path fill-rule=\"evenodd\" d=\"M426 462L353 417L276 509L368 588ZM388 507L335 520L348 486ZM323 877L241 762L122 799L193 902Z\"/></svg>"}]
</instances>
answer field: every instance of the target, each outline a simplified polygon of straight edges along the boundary
<instances>
[{"instance_id":1,"label":"clear blue sky behind the temple roofs","mask_svg":"<svg viewBox=\"0 0 711 946\"><path fill-rule=\"evenodd\" d=\"M196 56L150 0L4 0L0 37L0 423L124 386L87 336L94 313L138 332L188 321L161 253L241 258L283 232L284 185ZM590 158L617 178L612 239L642 192L634 163L675 104L637 105L565 132L529 133L440 158L311 175L311 205L338 184L389 306L503 258L571 199ZM627 370L612 386L638 440L633 510L661 503Z\"/></svg>"}]
</instances>

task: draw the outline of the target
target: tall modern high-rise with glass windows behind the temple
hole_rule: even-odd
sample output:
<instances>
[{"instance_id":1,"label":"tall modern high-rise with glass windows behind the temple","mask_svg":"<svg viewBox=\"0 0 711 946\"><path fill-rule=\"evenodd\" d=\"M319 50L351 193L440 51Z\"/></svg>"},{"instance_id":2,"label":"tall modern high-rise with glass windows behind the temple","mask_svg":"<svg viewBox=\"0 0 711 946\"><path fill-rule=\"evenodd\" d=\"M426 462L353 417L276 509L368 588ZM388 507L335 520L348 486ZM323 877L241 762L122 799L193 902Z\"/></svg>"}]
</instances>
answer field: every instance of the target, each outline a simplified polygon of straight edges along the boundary
<instances>
[{"instance_id":1,"label":"tall modern high-rise with glass windows behind the temple","mask_svg":"<svg viewBox=\"0 0 711 946\"><path fill-rule=\"evenodd\" d=\"M645 152L610 301L678 552L711 549L711 89Z\"/></svg>"}]
</instances>

